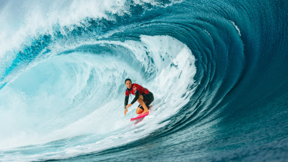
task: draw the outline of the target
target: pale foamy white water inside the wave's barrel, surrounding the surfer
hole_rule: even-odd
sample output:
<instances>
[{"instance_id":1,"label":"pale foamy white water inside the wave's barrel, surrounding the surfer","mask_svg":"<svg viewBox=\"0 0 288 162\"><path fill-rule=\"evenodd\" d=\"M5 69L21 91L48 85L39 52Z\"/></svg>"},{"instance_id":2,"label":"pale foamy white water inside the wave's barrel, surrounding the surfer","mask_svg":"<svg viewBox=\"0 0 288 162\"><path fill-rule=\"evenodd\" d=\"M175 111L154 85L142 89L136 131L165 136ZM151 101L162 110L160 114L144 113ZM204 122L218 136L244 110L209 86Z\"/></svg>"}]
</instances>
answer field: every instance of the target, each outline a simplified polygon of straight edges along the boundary
<instances>
[{"instance_id":1,"label":"pale foamy white water inside the wave's barrel, surrounding the surfer","mask_svg":"<svg viewBox=\"0 0 288 162\"><path fill-rule=\"evenodd\" d=\"M8 126L2 128L5 133L1 133L1 148L45 144L84 135L92 140L78 149L68 147L39 157L54 158L62 152L75 156L102 150L125 144L123 140L146 136L163 126L157 124L189 101L191 80L196 73L195 58L179 40L142 35L141 41L88 44L37 62L1 90L4 92L1 102L9 107L1 109L1 119ZM142 125L131 127L127 119L133 117L136 106L123 117L123 80L127 77L142 83L156 96L157 108L145 119L157 118L150 123L150 129ZM177 93L171 93L171 89L177 89ZM15 123L17 119L24 122ZM95 135L90 134L101 136L101 140L95 143Z\"/></svg>"}]
</instances>

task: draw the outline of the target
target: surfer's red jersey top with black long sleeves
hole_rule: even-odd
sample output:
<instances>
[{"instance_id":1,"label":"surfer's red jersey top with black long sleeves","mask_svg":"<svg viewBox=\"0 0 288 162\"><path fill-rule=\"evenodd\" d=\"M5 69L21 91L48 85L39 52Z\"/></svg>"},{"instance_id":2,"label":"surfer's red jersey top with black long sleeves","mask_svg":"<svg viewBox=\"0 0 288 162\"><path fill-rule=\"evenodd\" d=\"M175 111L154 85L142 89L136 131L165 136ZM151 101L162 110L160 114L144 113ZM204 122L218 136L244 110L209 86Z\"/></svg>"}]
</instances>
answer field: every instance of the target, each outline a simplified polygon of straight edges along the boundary
<instances>
[{"instance_id":1,"label":"surfer's red jersey top with black long sleeves","mask_svg":"<svg viewBox=\"0 0 288 162\"><path fill-rule=\"evenodd\" d=\"M128 104L129 94L135 95L135 98L132 100L131 104L135 103L139 98L139 95L146 95L150 91L139 84L133 83L132 88L128 90L126 89L125 92L125 106Z\"/></svg>"}]
</instances>

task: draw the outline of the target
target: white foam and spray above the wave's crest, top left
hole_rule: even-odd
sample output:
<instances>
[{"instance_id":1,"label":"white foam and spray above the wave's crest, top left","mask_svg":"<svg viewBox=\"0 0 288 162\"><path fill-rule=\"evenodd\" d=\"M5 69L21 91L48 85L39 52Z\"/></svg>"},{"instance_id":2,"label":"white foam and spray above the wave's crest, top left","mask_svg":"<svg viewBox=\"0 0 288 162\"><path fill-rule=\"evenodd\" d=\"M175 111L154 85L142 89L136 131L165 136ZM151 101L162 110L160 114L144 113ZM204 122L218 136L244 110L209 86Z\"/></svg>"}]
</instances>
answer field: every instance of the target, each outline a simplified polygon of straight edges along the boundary
<instances>
[{"instance_id":1,"label":"white foam and spray above the wave's crest, top left","mask_svg":"<svg viewBox=\"0 0 288 162\"><path fill-rule=\"evenodd\" d=\"M173 0L167 5L180 1ZM160 5L157 0L133 1L140 5L144 5L144 2ZM113 21L113 14L130 14L130 3L126 0L25 0L21 3L18 0L9 0L0 12L0 58L6 59L7 55L10 58L9 51L21 51L23 46L31 44L40 34L53 35L55 26L66 35L63 27L73 30L73 25L85 25L86 18Z\"/></svg>"}]
</instances>

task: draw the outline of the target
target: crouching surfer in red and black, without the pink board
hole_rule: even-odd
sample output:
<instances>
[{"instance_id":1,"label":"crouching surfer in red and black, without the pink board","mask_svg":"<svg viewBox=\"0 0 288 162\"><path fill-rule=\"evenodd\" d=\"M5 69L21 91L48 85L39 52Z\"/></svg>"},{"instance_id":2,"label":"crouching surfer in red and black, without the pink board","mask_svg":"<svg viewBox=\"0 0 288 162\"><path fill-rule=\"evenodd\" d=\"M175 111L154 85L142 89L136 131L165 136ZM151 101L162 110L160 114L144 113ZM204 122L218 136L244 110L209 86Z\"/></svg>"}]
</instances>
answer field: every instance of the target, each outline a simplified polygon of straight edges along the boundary
<instances>
[{"instance_id":1,"label":"crouching surfer in red and black, without the pink board","mask_svg":"<svg viewBox=\"0 0 288 162\"><path fill-rule=\"evenodd\" d=\"M125 110L124 115L128 112L127 108L132 106L133 103L138 101L140 104L136 109L136 114L144 114L146 112L149 112L149 104L154 100L153 94L146 88L142 87L139 84L133 83L131 79L125 79L125 85L127 87L125 92ZM135 95L134 99L130 104L128 104L129 95L131 96Z\"/></svg>"}]
</instances>

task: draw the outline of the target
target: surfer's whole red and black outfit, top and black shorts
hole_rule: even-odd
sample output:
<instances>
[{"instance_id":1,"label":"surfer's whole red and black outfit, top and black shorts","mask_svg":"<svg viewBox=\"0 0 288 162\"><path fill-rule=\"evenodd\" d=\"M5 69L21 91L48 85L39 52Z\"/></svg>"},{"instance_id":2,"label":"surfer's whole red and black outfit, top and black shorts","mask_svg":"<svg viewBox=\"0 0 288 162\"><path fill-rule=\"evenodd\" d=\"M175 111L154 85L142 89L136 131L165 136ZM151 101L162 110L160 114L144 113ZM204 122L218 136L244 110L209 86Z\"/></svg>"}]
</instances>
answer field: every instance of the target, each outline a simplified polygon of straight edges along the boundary
<instances>
[{"instance_id":1,"label":"surfer's whole red and black outfit, top and black shorts","mask_svg":"<svg viewBox=\"0 0 288 162\"><path fill-rule=\"evenodd\" d=\"M125 106L128 105L128 100L129 100L129 95L130 94L135 95L135 97L132 100L131 104L133 104L133 103L135 103L137 101L137 99L139 98L139 95L143 96L143 101L144 101L144 103L145 103L145 105L147 107L154 100L153 94L148 89L142 87L139 84L133 83L131 89L128 89L128 88L126 89L126 92L125 92ZM141 106L141 104L139 104L138 107L141 108L142 110L144 110L144 108ZM149 107L148 107L148 109L149 109Z\"/></svg>"}]
</instances>

